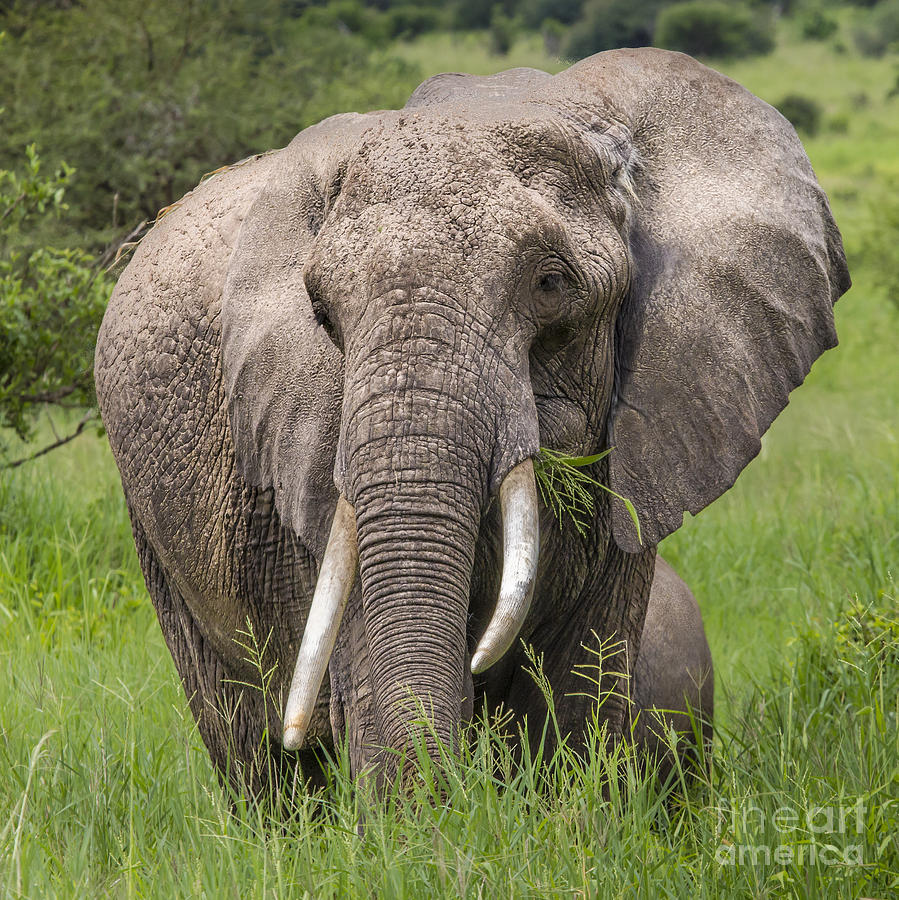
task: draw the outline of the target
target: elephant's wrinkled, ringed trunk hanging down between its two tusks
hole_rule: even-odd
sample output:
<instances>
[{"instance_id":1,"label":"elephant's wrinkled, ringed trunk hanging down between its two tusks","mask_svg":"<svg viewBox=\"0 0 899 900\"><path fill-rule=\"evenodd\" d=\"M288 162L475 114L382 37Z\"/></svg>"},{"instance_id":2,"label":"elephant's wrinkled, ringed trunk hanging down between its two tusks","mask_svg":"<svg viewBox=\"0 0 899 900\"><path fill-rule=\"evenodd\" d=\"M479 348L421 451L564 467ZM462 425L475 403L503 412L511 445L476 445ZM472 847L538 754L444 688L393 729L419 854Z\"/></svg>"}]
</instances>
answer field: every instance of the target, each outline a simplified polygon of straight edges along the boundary
<instances>
[{"instance_id":1,"label":"elephant's wrinkled, ringed trunk hanging down between its two tusks","mask_svg":"<svg viewBox=\"0 0 899 900\"><path fill-rule=\"evenodd\" d=\"M495 415L474 373L434 348L410 366L409 341L382 344L348 384L343 480L356 511L374 734L388 753L422 730L457 740L469 588L488 493ZM418 343L418 347L421 344ZM417 347L417 349L418 349ZM471 699L471 698L468 698ZM372 748L372 753L375 750Z\"/></svg>"}]
</instances>

